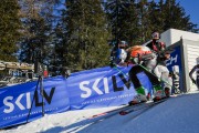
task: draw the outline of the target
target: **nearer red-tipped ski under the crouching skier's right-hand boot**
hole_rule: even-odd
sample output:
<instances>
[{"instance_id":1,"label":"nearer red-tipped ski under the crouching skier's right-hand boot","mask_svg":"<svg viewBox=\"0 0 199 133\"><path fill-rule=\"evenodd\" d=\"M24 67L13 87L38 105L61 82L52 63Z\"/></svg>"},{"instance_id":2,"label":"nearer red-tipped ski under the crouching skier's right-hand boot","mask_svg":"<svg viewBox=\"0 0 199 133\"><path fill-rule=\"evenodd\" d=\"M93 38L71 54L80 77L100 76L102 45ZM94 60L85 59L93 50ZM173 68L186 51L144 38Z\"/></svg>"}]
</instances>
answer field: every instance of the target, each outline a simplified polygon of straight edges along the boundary
<instances>
[{"instance_id":1,"label":"nearer red-tipped ski under the crouching skier's right-hand boot","mask_svg":"<svg viewBox=\"0 0 199 133\"><path fill-rule=\"evenodd\" d=\"M139 110L143 110L143 109L150 109L161 102L165 102L167 99L163 99L163 100L159 100L159 101L156 101L156 102L150 102L142 108L137 108L137 109L128 109L128 110L123 110L119 112L121 115L126 115L126 114L129 114L132 112L135 112L135 111L139 111Z\"/></svg>"}]
</instances>

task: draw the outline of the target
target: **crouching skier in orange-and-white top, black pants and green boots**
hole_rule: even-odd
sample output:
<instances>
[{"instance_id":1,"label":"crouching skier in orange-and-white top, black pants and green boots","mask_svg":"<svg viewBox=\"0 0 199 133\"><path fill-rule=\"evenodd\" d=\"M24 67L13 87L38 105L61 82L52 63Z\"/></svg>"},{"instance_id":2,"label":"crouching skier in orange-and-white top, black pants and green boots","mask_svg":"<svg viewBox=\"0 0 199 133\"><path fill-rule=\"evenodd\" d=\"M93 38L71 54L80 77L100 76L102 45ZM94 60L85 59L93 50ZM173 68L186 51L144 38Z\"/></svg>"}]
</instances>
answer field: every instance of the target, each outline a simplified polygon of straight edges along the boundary
<instances>
[{"instance_id":1,"label":"crouching skier in orange-and-white top, black pants and green boots","mask_svg":"<svg viewBox=\"0 0 199 133\"><path fill-rule=\"evenodd\" d=\"M129 78L137 92L137 95L133 99L133 101L129 102L129 105L132 105L139 102L146 102L153 94L151 89L145 89L143 86L139 79L137 78L138 73L144 72L150 80L154 88L160 86L160 82L155 74L151 74L153 69L157 64L157 55L149 48L144 45L135 45L129 48L127 51L130 54L132 63L136 64L129 70ZM146 69L144 69L143 66Z\"/></svg>"}]
</instances>

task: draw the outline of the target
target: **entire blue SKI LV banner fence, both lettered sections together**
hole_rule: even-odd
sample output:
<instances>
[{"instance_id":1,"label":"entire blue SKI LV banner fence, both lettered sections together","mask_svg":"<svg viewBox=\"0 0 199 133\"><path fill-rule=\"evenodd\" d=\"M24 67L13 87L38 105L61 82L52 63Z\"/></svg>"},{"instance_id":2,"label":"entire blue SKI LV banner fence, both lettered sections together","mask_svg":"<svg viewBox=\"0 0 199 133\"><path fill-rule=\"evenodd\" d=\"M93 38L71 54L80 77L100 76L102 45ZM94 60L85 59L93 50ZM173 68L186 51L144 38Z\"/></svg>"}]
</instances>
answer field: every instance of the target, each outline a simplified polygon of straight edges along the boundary
<instances>
[{"instance_id":1,"label":"entire blue SKI LV banner fence, both lettered sections together","mask_svg":"<svg viewBox=\"0 0 199 133\"><path fill-rule=\"evenodd\" d=\"M128 78L132 66L98 68L72 73L70 78L43 80L44 113L126 104L136 91ZM137 74L145 88L151 88L144 73ZM0 89L0 127L25 123L42 116L40 84L29 82ZM31 108L32 105L32 108ZM31 109L31 111L30 111ZM30 113L30 116L28 117Z\"/></svg>"}]
</instances>

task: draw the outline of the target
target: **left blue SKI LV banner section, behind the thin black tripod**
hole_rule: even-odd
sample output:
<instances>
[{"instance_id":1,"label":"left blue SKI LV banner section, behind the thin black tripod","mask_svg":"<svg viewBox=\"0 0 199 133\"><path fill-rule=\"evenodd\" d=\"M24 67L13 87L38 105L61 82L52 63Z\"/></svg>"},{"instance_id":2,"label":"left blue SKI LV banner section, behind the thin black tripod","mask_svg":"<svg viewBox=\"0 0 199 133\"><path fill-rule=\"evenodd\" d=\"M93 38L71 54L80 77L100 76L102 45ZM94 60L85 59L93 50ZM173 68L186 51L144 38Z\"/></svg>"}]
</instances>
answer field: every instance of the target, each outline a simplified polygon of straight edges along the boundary
<instances>
[{"instance_id":1,"label":"left blue SKI LV banner section, behind the thin black tripod","mask_svg":"<svg viewBox=\"0 0 199 133\"><path fill-rule=\"evenodd\" d=\"M35 81L0 89L0 127L25 123L32 102L28 121L42 116L42 96L40 85L36 89L36 84ZM43 81L45 113L63 112L70 109L65 86L65 79L61 76Z\"/></svg>"}]
</instances>

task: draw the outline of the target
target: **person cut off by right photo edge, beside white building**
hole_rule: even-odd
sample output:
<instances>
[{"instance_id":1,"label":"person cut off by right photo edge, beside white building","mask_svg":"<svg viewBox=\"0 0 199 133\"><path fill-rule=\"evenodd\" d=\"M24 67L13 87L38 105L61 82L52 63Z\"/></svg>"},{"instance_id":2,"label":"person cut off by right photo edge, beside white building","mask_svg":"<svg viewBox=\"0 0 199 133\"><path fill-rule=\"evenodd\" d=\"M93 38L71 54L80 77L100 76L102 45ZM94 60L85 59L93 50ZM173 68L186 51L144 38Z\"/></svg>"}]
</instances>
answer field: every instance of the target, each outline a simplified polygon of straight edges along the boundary
<instances>
[{"instance_id":1,"label":"person cut off by right photo edge, beside white building","mask_svg":"<svg viewBox=\"0 0 199 133\"><path fill-rule=\"evenodd\" d=\"M199 60L199 58L198 58ZM196 72L196 80L193 79L192 74ZM195 83L199 90L199 62L197 65L195 65L191 71L189 72L189 76L192 81L192 83Z\"/></svg>"}]
</instances>

